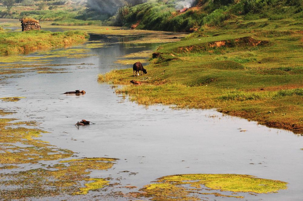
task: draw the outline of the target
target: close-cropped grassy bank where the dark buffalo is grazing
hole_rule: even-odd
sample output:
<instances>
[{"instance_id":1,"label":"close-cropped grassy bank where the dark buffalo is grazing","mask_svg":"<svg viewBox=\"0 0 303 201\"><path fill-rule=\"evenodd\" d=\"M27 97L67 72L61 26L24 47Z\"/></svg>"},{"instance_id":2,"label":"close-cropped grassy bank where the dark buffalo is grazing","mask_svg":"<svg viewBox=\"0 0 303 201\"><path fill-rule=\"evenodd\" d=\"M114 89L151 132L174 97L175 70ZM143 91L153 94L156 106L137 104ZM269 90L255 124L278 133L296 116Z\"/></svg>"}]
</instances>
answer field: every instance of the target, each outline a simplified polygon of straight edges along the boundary
<instances>
[{"instance_id":1,"label":"close-cropped grassy bank where the dark buffalo is grazing","mask_svg":"<svg viewBox=\"0 0 303 201\"><path fill-rule=\"evenodd\" d=\"M218 108L303 133L302 23L237 17L224 28L203 26L203 32L159 47L146 66L148 74L135 78L142 85L129 82L132 69L98 80L125 84L117 92L139 104Z\"/></svg>"}]
</instances>

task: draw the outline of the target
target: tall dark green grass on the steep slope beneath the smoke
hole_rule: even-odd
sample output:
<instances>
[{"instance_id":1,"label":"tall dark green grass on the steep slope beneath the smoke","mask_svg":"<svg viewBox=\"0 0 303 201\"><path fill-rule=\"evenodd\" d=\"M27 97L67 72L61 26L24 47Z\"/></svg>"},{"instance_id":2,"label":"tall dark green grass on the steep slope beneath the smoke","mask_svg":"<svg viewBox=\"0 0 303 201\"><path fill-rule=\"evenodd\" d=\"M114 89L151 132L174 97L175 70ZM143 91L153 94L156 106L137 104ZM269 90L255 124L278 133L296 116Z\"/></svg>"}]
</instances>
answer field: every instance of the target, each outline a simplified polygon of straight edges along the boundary
<instances>
[{"instance_id":1,"label":"tall dark green grass on the steep slope beneath the smoke","mask_svg":"<svg viewBox=\"0 0 303 201\"><path fill-rule=\"evenodd\" d=\"M199 0L183 13L179 13L176 9L175 1L148 1L127 8L127 12L123 15L117 12L104 23L137 27L137 29L192 32L204 25L229 29L228 22L238 16L243 16L241 19L245 21L302 19L302 11L302 0ZM262 26L265 27L267 24L260 25Z\"/></svg>"}]
</instances>

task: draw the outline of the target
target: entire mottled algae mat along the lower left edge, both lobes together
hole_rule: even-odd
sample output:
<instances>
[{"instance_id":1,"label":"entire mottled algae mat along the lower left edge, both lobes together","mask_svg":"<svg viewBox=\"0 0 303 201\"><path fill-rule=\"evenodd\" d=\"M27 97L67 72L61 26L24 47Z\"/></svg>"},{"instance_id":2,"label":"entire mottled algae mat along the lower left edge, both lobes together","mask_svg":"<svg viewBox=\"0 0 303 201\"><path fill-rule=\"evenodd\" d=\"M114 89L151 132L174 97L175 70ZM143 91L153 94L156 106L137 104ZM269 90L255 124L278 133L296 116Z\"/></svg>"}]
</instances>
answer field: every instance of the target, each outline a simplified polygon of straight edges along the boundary
<instances>
[{"instance_id":1,"label":"entire mottled algae mat along the lower left edge, both lobes together","mask_svg":"<svg viewBox=\"0 0 303 201\"><path fill-rule=\"evenodd\" d=\"M0 110L1 115L11 114ZM87 194L109 185L104 178L91 178L92 170L112 168L115 158L75 158L71 150L59 149L38 140L43 130L20 125L36 126L35 122L13 122L0 118L0 198L2 200L29 197ZM18 146L17 144L22 144ZM62 160L74 157L71 160ZM60 161L58 161L60 160ZM46 166L43 161L55 165ZM21 171L22 166L41 165ZM83 183L85 183L83 185ZM12 188L13 186L13 188Z\"/></svg>"}]
</instances>

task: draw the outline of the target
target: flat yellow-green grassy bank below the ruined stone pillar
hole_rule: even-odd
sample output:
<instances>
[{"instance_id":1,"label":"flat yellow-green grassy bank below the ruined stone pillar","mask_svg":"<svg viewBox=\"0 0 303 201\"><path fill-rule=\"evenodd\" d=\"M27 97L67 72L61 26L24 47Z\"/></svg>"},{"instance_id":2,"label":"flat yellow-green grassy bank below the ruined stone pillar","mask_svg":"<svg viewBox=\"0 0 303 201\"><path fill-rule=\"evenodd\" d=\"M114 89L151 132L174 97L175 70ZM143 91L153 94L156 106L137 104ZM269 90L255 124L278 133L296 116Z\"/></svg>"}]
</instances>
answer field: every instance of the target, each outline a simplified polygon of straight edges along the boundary
<instances>
[{"instance_id":1,"label":"flat yellow-green grassy bank below the ruined stone pillar","mask_svg":"<svg viewBox=\"0 0 303 201\"><path fill-rule=\"evenodd\" d=\"M86 41L89 35L84 31L26 31L0 30L0 55L26 53L52 47L65 47Z\"/></svg>"}]
</instances>

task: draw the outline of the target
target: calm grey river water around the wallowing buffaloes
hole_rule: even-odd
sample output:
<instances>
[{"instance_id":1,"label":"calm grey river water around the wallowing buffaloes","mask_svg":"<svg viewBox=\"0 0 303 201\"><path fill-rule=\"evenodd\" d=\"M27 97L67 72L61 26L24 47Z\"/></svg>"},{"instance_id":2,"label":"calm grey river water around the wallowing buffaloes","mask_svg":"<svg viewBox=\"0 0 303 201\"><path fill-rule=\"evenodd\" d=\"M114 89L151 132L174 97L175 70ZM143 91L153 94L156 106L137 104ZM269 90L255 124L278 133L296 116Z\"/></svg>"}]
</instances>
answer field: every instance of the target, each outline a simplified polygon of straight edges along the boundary
<instances>
[{"instance_id":1,"label":"calm grey river water around the wallowing buffaloes","mask_svg":"<svg viewBox=\"0 0 303 201\"><path fill-rule=\"evenodd\" d=\"M9 118L41 122L40 127L51 132L44 133L42 140L72 150L79 157L120 159L112 169L102 171L101 175L94 171L91 176L109 176L112 177L111 183L119 182L121 185L108 188L106 192L62 196L60 199L128 200L108 193L115 190L136 191L166 175L231 173L289 183L287 190L257 196L245 194L245 200L302 200L301 136L226 116L215 110L172 110L169 106L162 105L147 108L115 94L110 85L99 84L96 80L98 73L131 68L131 65L113 63L117 58L133 52L152 50L159 45L118 43L138 37L140 36L91 35L90 41L72 48L82 49L93 41L105 43L105 47L89 48L85 52L88 57L84 58L48 58L53 60L48 61L49 64L72 64L52 67L66 68L65 71L70 73L27 72L21 74L24 77L9 78L8 83L0 88L1 97L26 97L18 102L1 101L0 108L18 112L9 115ZM61 50L51 52L55 55ZM43 52L28 56L41 54L43 56ZM40 60L43 61L43 58ZM131 80L132 71L129 74ZM62 94L76 89L85 90L86 94ZM81 119L95 124L78 130L74 124ZM247 131L240 132L239 128ZM28 165L25 169L35 166ZM119 186L129 184L138 188L118 189ZM92 198L100 194L104 196ZM206 197L208 200L235 200L210 195Z\"/></svg>"}]
</instances>

